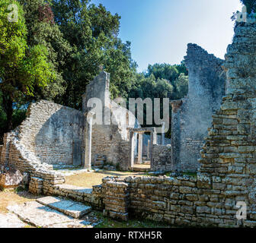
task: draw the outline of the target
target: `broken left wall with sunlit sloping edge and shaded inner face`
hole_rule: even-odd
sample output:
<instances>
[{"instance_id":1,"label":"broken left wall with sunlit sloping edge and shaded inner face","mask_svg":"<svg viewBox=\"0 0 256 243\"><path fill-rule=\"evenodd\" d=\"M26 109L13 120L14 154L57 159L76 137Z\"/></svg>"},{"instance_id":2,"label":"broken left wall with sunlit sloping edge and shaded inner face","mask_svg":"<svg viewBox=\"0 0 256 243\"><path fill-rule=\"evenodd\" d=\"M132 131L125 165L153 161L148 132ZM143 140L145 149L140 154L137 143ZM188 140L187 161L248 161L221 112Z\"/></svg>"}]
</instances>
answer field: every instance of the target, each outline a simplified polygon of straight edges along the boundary
<instances>
[{"instance_id":1,"label":"broken left wall with sunlit sloping edge and shaded inner face","mask_svg":"<svg viewBox=\"0 0 256 243\"><path fill-rule=\"evenodd\" d=\"M75 109L45 100L31 104L24 122L5 134L0 167L18 169L34 178L31 181L41 181L42 185L30 185L34 193L64 183L53 164L73 163L73 141L82 139L83 121L84 115Z\"/></svg>"}]
</instances>

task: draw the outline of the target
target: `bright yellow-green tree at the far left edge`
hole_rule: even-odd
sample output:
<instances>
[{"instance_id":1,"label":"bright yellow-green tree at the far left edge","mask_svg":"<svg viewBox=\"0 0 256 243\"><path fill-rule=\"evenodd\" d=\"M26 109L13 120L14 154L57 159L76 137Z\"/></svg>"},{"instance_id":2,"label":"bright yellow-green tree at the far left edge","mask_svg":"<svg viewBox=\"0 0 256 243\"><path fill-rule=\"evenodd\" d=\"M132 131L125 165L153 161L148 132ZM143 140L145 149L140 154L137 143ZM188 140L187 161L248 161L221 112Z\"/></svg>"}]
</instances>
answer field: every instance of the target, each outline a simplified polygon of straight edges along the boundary
<instances>
[{"instance_id":1,"label":"bright yellow-green tree at the far left edge","mask_svg":"<svg viewBox=\"0 0 256 243\"><path fill-rule=\"evenodd\" d=\"M18 7L18 21L8 21L8 5ZM0 92L2 109L6 114L7 131L13 128L13 114L17 104L26 103L34 91L46 87L56 73L47 62L43 45L27 46L27 27L19 2L0 0Z\"/></svg>"}]
</instances>

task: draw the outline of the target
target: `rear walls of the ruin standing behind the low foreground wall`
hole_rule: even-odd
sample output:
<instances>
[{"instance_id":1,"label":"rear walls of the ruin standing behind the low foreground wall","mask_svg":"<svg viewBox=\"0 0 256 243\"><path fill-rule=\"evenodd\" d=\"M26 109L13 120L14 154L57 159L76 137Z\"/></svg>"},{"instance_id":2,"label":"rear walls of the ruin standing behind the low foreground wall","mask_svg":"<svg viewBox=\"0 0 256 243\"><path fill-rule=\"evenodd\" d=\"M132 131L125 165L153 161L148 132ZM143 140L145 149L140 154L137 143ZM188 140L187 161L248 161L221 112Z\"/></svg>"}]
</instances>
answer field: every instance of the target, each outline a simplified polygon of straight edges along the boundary
<instances>
[{"instance_id":1,"label":"rear walls of the ruin standing behind the low foreground wall","mask_svg":"<svg viewBox=\"0 0 256 243\"><path fill-rule=\"evenodd\" d=\"M165 144L154 128L136 131L140 126L135 116L110 99L110 74L101 71L82 96L82 112L43 100L32 104L21 126L5 134L1 163L14 163L13 152L18 150L24 159L43 163L47 168L90 168L109 163L127 170L133 169L134 163L142 163L144 155L152 170L195 171L211 116L225 93L222 63L199 46L188 45L185 64L189 91L184 99L171 102L171 141ZM89 120L95 114L91 118L89 114L95 105L101 121L91 124Z\"/></svg>"}]
</instances>

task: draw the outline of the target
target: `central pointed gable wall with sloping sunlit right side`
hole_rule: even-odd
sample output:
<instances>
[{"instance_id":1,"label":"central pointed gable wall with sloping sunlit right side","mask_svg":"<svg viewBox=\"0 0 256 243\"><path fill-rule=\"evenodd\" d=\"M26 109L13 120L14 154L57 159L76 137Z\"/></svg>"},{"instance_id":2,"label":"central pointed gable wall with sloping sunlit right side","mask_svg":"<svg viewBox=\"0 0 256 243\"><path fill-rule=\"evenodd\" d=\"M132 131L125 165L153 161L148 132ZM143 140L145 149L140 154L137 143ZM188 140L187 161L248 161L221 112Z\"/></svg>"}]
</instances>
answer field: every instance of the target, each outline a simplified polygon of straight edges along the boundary
<instances>
[{"instance_id":1,"label":"central pointed gable wall with sloping sunlit right side","mask_svg":"<svg viewBox=\"0 0 256 243\"><path fill-rule=\"evenodd\" d=\"M110 114L110 125L93 125L91 138L91 159L92 164L98 156L106 156L107 163L119 165L121 169L129 168L130 142L129 131L127 128L139 127L133 113L119 106L110 99L110 74L102 71L94 80L88 84L86 93L83 95L83 110L89 112L90 107L87 107L88 100L98 98L102 103L102 115ZM132 117L133 122L128 118Z\"/></svg>"}]
</instances>

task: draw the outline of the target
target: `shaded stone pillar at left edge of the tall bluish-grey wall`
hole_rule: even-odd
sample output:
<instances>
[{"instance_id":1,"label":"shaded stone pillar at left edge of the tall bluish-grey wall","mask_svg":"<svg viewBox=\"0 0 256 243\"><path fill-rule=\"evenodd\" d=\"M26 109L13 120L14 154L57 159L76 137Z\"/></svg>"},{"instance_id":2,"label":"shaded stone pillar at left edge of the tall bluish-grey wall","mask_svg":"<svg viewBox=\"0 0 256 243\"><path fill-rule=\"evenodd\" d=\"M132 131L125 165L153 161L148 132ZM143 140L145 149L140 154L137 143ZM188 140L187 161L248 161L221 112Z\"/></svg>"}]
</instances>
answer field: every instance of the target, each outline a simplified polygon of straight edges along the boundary
<instances>
[{"instance_id":1,"label":"shaded stone pillar at left edge of the tall bluish-grey wall","mask_svg":"<svg viewBox=\"0 0 256 243\"><path fill-rule=\"evenodd\" d=\"M181 105L182 100L171 101L171 167L177 169L181 152Z\"/></svg>"}]
</instances>

